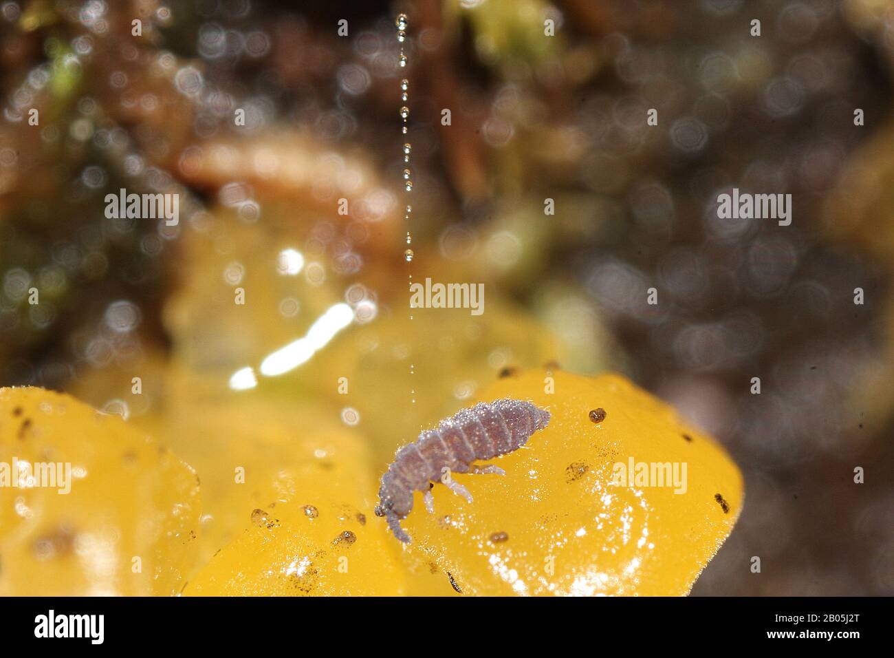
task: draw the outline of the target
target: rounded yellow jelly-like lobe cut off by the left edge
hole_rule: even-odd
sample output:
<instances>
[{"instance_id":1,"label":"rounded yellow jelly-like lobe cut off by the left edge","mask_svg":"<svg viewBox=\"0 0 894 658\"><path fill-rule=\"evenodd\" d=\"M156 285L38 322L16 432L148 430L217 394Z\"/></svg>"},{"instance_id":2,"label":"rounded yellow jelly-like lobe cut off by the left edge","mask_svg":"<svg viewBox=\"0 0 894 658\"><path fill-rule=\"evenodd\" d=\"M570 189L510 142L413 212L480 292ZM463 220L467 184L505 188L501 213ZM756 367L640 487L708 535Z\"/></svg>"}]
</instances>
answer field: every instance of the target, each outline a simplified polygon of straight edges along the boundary
<instances>
[{"instance_id":1,"label":"rounded yellow jelly-like lobe cut off by the left edge","mask_svg":"<svg viewBox=\"0 0 894 658\"><path fill-rule=\"evenodd\" d=\"M120 417L0 389L0 595L177 594L198 514L195 472Z\"/></svg>"}]
</instances>

